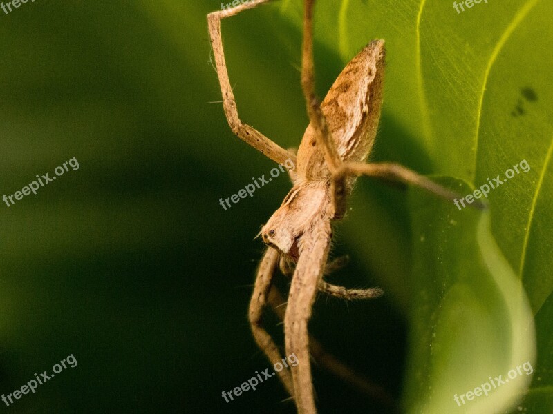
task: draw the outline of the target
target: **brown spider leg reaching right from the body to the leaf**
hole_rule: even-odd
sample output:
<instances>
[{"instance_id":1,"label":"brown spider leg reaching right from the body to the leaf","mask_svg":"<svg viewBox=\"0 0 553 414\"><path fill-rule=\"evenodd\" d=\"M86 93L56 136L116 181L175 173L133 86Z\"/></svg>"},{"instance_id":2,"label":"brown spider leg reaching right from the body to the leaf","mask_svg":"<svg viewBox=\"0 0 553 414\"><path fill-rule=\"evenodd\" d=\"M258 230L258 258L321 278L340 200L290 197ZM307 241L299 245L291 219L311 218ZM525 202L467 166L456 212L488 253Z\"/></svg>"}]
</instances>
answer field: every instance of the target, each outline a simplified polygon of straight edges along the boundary
<instances>
[{"instance_id":1,"label":"brown spider leg reaching right from the body to the leaf","mask_svg":"<svg viewBox=\"0 0 553 414\"><path fill-rule=\"evenodd\" d=\"M411 184L428 190L439 197L449 199L460 198L460 196L453 191L448 190L436 184L431 179L418 174L413 170L409 170L400 164L391 162L371 163L365 164L362 162L348 162L344 163L338 168L334 174L332 174L332 197L337 215L341 215L346 210L346 197L349 193L348 178L357 177L359 175L368 175L371 177L377 177L381 179L387 179L391 181L400 181L404 184ZM482 208L484 204L475 203L474 206Z\"/></svg>"}]
</instances>

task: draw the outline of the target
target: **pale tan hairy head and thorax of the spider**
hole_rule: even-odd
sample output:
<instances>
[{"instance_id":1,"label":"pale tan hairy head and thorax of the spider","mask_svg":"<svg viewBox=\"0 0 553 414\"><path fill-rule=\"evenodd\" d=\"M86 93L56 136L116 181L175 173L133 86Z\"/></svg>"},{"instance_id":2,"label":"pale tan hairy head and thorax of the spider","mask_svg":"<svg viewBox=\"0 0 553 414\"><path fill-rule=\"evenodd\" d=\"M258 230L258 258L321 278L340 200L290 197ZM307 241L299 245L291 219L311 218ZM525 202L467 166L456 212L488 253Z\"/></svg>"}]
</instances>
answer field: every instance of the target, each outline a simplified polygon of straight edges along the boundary
<instances>
[{"instance_id":1,"label":"pale tan hairy head and thorax of the spider","mask_svg":"<svg viewBox=\"0 0 553 414\"><path fill-rule=\"evenodd\" d=\"M296 262L301 250L301 236L321 219L327 203L325 186L317 183L294 186L261 229L263 242Z\"/></svg>"}]
</instances>

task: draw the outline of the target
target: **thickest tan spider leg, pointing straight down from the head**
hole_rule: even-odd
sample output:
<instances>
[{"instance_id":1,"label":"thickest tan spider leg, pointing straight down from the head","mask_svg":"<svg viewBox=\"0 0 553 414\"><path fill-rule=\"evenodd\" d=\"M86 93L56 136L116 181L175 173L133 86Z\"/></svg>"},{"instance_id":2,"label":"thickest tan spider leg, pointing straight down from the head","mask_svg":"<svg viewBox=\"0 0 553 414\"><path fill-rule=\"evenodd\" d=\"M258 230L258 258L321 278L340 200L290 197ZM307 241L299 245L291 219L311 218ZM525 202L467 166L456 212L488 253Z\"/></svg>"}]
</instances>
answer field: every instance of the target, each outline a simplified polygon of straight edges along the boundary
<instances>
[{"instance_id":1,"label":"thickest tan spider leg, pointing straight down from the head","mask_svg":"<svg viewBox=\"0 0 553 414\"><path fill-rule=\"evenodd\" d=\"M317 413L313 398L307 326L326 266L331 235L330 223L321 221L301 237L300 255L288 295L284 334L287 355L295 354L298 361L297 366L291 367L291 370L299 414Z\"/></svg>"}]
</instances>

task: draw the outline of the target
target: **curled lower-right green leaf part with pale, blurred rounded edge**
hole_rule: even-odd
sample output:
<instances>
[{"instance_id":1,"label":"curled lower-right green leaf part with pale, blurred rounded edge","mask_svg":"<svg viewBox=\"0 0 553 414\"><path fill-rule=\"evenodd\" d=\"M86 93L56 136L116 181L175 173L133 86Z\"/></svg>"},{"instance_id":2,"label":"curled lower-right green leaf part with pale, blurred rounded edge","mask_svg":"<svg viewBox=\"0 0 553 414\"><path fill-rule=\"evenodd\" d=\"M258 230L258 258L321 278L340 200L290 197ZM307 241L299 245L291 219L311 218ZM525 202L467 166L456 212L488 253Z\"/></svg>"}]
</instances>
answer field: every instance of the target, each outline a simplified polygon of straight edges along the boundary
<instances>
[{"instance_id":1,"label":"curled lower-right green leaf part with pale, blurred rounded edge","mask_svg":"<svg viewBox=\"0 0 553 414\"><path fill-rule=\"evenodd\" d=\"M523 286L491 235L489 212L460 211L420 191L411 206L414 294L404 404L409 413L503 412L520 402L535 366ZM517 367L521 373L508 377ZM510 381L494 389L498 375ZM488 395L464 400L490 380Z\"/></svg>"}]
</instances>

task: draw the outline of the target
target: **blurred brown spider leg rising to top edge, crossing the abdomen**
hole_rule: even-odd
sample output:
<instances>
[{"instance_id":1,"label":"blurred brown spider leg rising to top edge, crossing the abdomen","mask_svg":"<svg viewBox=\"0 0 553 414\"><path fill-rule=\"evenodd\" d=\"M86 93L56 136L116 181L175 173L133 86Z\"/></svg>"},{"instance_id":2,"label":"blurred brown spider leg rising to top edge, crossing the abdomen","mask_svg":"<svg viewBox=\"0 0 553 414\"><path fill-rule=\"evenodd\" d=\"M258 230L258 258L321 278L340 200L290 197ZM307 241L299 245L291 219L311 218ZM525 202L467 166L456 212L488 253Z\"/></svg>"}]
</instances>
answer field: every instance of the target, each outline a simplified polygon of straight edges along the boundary
<instances>
[{"instance_id":1,"label":"blurred brown spider leg rising to top edge, crossing the abdomen","mask_svg":"<svg viewBox=\"0 0 553 414\"><path fill-rule=\"evenodd\" d=\"M313 64L313 7L315 0L306 0L303 17L303 46L301 56L301 87L306 97L309 121L315 128L317 145L322 149L324 159L330 172L341 165L341 159L336 150L335 140L328 128L326 117L321 110L321 102L315 95L315 68Z\"/></svg>"}]
</instances>

